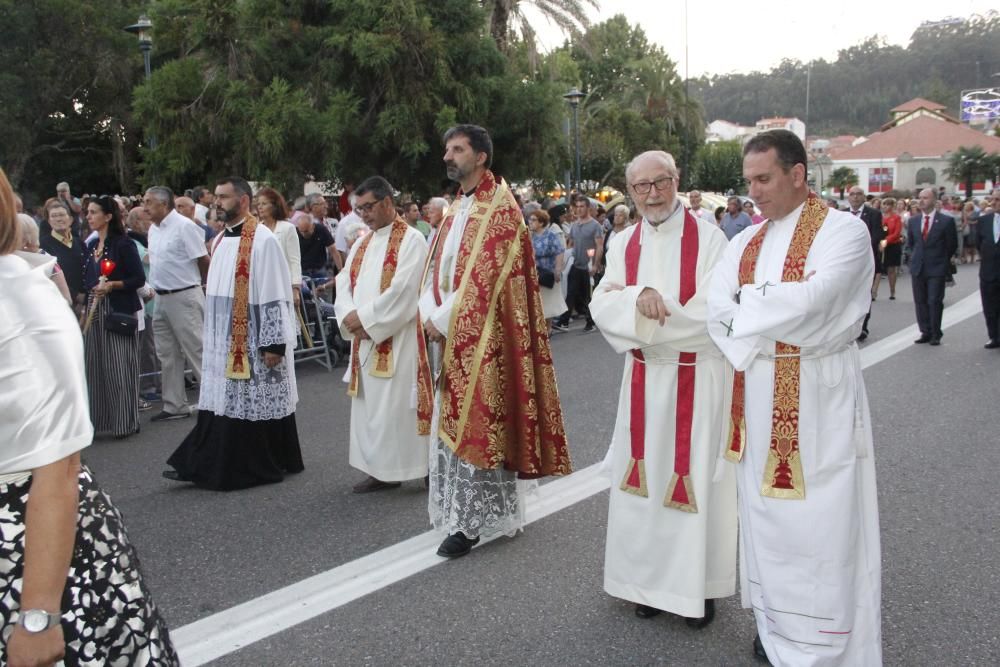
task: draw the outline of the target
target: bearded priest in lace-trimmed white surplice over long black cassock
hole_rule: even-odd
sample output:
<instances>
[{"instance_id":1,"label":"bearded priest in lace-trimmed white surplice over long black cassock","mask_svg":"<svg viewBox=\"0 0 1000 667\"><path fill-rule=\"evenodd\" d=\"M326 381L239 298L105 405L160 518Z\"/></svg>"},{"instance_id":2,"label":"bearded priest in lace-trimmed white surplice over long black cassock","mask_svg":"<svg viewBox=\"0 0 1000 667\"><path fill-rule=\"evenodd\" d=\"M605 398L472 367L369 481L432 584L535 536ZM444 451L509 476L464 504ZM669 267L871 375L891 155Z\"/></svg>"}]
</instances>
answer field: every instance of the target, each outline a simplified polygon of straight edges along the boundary
<instances>
[{"instance_id":1,"label":"bearded priest in lace-trimmed white surplice over long black cassock","mask_svg":"<svg viewBox=\"0 0 1000 667\"><path fill-rule=\"evenodd\" d=\"M163 476L228 491L301 472L295 426L295 310L277 237L250 215L253 191L230 177L215 188L216 219L205 286L198 423Z\"/></svg>"}]
</instances>

